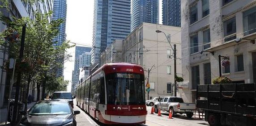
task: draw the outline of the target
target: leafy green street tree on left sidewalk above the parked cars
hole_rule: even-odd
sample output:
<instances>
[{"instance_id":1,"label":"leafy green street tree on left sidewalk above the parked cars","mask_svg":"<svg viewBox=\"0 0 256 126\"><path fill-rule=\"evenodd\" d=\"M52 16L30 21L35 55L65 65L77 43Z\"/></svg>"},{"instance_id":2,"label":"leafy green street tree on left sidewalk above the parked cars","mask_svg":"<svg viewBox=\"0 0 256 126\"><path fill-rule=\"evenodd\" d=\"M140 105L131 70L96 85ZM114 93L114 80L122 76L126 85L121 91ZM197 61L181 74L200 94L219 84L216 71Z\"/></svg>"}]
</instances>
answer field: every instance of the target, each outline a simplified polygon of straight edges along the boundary
<instances>
[{"instance_id":1,"label":"leafy green street tree on left sidewalk above the parked cars","mask_svg":"<svg viewBox=\"0 0 256 126\"><path fill-rule=\"evenodd\" d=\"M26 83L25 110L27 109L27 97L29 93L30 82L35 80L40 83L45 79L45 75L52 73L63 64L58 62L60 59L67 59L66 49L72 47L69 42L63 42L60 46L53 38L59 33L59 26L63 19L49 21L51 13L35 12L34 21L27 17L7 21L10 27L0 33L0 46L7 50L10 58L17 59L16 71L22 72L22 79ZM22 26L26 25L24 56L18 59L20 50L20 37L12 39L14 33L21 34ZM3 49L2 48L2 49ZM40 85L39 85L40 86Z\"/></svg>"}]
</instances>

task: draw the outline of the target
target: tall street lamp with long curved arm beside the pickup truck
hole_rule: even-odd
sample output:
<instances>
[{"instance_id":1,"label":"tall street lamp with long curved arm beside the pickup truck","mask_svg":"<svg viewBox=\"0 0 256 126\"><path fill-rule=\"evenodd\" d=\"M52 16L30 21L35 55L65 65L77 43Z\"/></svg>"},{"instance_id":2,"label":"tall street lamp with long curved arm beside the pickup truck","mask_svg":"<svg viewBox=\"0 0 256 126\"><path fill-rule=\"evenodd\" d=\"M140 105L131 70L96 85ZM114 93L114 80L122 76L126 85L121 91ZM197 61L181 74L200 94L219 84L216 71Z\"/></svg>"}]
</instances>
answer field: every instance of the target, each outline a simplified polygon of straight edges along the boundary
<instances>
[{"instance_id":1,"label":"tall street lamp with long curved arm beside the pickup truck","mask_svg":"<svg viewBox=\"0 0 256 126\"><path fill-rule=\"evenodd\" d=\"M166 34L163 32L163 31L160 31L160 30L156 30L156 33L163 33L165 35L165 37L167 38L167 41L168 43L170 44L171 46L171 42L170 40L168 39L168 37L166 36ZM171 46L171 49L173 50L173 58L174 58L174 96L176 97L177 96L177 81L176 81L176 76L177 76L177 70L176 70L176 44L173 45L174 48Z\"/></svg>"}]
</instances>

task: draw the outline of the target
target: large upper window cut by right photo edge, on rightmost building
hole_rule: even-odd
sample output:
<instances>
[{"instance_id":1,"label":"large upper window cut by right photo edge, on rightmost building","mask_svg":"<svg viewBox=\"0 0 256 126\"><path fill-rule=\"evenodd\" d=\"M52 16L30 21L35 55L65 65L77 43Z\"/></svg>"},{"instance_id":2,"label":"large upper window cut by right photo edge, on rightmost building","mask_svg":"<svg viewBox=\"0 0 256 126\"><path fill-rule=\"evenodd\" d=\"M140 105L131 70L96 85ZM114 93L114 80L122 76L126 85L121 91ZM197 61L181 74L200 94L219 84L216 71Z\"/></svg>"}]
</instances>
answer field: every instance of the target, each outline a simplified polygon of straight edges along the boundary
<instances>
[{"instance_id":1,"label":"large upper window cut by right photo edge, on rightmost building","mask_svg":"<svg viewBox=\"0 0 256 126\"><path fill-rule=\"evenodd\" d=\"M256 7L243 12L243 32L244 35L256 32Z\"/></svg>"}]
</instances>

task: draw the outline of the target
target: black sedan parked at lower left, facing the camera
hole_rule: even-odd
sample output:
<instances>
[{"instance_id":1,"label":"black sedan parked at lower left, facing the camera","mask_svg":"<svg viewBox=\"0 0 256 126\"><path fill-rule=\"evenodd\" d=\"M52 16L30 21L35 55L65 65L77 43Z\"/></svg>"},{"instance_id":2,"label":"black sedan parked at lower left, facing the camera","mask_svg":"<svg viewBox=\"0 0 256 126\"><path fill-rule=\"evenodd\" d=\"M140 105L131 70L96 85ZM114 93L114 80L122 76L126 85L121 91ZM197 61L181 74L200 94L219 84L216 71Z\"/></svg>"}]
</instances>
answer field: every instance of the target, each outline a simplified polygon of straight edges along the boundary
<instances>
[{"instance_id":1,"label":"black sedan parked at lower left, facing the camera","mask_svg":"<svg viewBox=\"0 0 256 126\"><path fill-rule=\"evenodd\" d=\"M77 126L76 114L67 101L38 101L21 119L20 126Z\"/></svg>"}]
</instances>

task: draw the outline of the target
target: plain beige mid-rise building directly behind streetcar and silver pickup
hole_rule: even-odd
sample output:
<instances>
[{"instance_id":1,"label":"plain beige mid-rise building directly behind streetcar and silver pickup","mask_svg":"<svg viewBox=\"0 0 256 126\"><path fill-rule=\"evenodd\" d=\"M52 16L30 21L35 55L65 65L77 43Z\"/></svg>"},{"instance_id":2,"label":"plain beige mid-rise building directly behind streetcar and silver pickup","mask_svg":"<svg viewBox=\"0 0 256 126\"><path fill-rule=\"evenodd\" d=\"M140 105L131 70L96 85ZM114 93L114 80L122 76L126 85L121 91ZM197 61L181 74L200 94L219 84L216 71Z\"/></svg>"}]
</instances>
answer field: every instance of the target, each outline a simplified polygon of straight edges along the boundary
<instances>
[{"instance_id":1,"label":"plain beige mid-rise building directly behind streetcar and silver pickup","mask_svg":"<svg viewBox=\"0 0 256 126\"><path fill-rule=\"evenodd\" d=\"M115 41L108 47L106 54L110 56L107 58L106 63L111 63L110 59L112 59L112 62L140 64L144 68L145 79L148 78L148 69L155 66L149 74L151 88L149 97L174 96L173 51L165 35L163 33L157 34L156 30L165 32L171 40L171 45L176 44L178 58L177 75L182 76L180 27L142 23L123 40L122 44L119 41ZM120 49L119 47L122 48ZM177 92L177 96L181 96L179 92Z\"/></svg>"}]
</instances>

